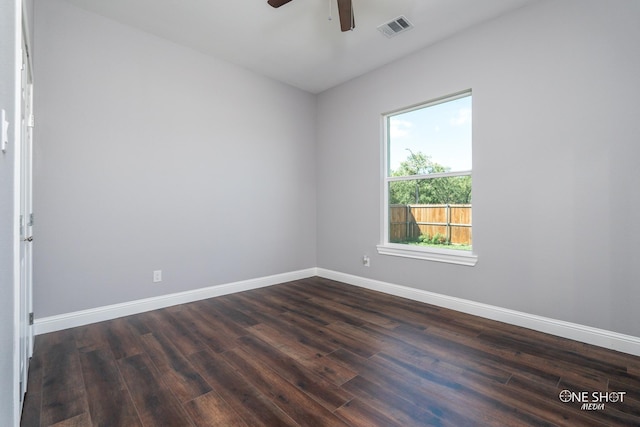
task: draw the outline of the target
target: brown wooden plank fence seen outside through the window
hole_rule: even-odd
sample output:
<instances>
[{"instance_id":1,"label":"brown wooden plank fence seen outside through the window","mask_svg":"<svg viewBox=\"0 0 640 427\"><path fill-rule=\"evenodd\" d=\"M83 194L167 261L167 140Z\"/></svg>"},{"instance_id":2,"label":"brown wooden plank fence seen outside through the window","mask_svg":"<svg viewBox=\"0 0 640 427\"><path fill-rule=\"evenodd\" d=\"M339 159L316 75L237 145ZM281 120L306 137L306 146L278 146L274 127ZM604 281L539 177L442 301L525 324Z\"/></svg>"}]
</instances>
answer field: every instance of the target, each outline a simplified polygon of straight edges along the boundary
<instances>
[{"instance_id":1,"label":"brown wooden plank fence seen outside through the window","mask_svg":"<svg viewBox=\"0 0 640 427\"><path fill-rule=\"evenodd\" d=\"M445 236L453 244L471 244L471 205L391 205L389 241L415 240L421 234Z\"/></svg>"}]
</instances>

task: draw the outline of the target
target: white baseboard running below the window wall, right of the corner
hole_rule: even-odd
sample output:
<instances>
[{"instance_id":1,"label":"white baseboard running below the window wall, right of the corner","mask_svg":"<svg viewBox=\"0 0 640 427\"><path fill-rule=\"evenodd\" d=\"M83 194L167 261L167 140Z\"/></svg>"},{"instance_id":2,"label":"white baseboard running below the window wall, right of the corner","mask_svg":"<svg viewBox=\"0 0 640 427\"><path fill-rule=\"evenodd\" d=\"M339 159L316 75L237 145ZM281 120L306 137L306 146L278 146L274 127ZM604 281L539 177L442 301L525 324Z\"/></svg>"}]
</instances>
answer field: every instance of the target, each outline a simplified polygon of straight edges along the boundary
<instances>
[{"instance_id":1,"label":"white baseboard running below the window wall, right of the corner","mask_svg":"<svg viewBox=\"0 0 640 427\"><path fill-rule=\"evenodd\" d=\"M640 356L640 338L475 301L318 268L318 276L511 325Z\"/></svg>"}]
</instances>

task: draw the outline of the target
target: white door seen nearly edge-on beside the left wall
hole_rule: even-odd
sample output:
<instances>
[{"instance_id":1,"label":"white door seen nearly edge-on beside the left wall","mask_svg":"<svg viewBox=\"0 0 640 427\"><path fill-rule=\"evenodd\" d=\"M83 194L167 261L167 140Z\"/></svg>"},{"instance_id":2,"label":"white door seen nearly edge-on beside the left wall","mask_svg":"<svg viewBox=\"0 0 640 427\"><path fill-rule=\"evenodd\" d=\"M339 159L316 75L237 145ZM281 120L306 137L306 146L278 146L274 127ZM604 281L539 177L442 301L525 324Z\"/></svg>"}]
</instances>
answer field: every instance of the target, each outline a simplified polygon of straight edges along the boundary
<instances>
[{"instance_id":1,"label":"white door seen nearly edge-on beside the left wall","mask_svg":"<svg viewBox=\"0 0 640 427\"><path fill-rule=\"evenodd\" d=\"M20 406L27 391L29 359L33 354L32 328L32 242L33 242L33 77L28 43L22 37L20 127Z\"/></svg>"}]
</instances>

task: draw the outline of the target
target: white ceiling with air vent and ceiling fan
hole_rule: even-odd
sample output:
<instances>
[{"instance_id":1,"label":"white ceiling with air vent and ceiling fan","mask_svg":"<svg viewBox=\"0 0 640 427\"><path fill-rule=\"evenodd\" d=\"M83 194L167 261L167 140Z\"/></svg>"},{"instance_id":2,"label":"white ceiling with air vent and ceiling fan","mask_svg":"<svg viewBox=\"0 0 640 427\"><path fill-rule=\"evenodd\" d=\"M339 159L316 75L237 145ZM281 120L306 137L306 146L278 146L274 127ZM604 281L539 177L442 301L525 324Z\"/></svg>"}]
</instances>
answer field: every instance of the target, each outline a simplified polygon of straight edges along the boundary
<instances>
[{"instance_id":1,"label":"white ceiling with air vent and ceiling fan","mask_svg":"<svg viewBox=\"0 0 640 427\"><path fill-rule=\"evenodd\" d=\"M312 93L537 0L353 0L356 27L340 31L336 0L67 0ZM333 19L329 20L331 6ZM404 15L394 38L377 30Z\"/></svg>"}]
</instances>

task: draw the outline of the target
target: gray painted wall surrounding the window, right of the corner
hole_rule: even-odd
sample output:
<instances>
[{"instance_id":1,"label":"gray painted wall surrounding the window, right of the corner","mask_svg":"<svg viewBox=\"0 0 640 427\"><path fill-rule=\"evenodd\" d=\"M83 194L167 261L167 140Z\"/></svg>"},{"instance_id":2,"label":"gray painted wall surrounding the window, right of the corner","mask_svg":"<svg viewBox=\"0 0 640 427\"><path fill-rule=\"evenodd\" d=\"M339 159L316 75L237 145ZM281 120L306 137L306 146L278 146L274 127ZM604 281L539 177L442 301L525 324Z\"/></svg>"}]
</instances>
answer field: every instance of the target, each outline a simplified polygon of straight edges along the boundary
<instances>
[{"instance_id":1,"label":"gray painted wall surrounding the window, right of the corner","mask_svg":"<svg viewBox=\"0 0 640 427\"><path fill-rule=\"evenodd\" d=\"M318 266L640 336L639 18L544 1L320 94ZM468 88L478 264L377 255L381 113Z\"/></svg>"}]
</instances>

